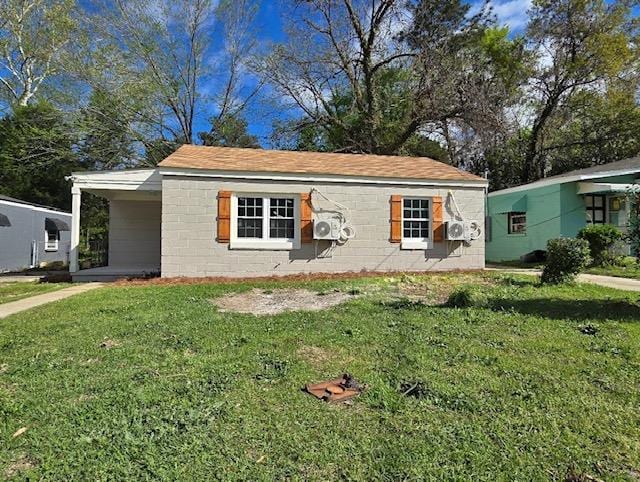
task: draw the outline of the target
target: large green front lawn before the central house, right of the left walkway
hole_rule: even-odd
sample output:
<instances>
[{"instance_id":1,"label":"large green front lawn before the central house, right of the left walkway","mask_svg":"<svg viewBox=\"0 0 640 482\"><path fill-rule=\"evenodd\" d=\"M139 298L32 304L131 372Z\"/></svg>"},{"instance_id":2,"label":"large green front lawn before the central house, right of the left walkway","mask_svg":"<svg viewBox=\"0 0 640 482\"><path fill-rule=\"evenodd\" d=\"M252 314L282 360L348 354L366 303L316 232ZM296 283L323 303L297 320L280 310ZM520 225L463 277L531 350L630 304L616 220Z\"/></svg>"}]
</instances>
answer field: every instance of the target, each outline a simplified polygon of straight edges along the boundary
<instances>
[{"instance_id":1,"label":"large green front lawn before the central house, right of the left walkway","mask_svg":"<svg viewBox=\"0 0 640 482\"><path fill-rule=\"evenodd\" d=\"M482 283L489 307L430 304L462 283ZM108 287L0 320L0 478L640 470L637 293L448 275L307 283L360 293L321 312L255 317L210 301L253 286L301 283ZM353 405L300 391L345 371L368 384Z\"/></svg>"}]
</instances>

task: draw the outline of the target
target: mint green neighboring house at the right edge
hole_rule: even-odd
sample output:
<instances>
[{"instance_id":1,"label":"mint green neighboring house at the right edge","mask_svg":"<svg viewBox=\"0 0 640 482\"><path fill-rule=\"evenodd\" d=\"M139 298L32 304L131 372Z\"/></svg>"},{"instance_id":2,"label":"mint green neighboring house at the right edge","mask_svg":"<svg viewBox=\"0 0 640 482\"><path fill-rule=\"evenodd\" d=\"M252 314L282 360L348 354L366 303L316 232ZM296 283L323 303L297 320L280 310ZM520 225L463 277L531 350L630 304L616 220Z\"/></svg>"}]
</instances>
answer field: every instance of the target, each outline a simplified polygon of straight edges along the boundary
<instances>
[{"instance_id":1,"label":"mint green neighboring house at the right edge","mask_svg":"<svg viewBox=\"0 0 640 482\"><path fill-rule=\"evenodd\" d=\"M587 224L627 229L627 194L640 187L640 157L579 169L489 194L488 261L521 259ZM625 248L628 253L628 247Z\"/></svg>"}]
</instances>

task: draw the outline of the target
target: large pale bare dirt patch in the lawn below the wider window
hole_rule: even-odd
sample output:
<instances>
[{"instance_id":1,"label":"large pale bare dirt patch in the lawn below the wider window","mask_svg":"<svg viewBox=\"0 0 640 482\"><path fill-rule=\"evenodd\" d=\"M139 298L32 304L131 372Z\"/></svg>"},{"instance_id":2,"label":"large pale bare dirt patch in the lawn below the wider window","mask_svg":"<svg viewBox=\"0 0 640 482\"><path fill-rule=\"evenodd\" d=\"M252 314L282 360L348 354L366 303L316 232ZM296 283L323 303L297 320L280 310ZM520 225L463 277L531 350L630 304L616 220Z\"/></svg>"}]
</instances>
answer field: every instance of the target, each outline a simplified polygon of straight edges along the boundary
<instances>
[{"instance_id":1,"label":"large pale bare dirt patch in the lawn below the wider window","mask_svg":"<svg viewBox=\"0 0 640 482\"><path fill-rule=\"evenodd\" d=\"M331 291L314 293L303 289L253 289L212 299L220 311L275 315L284 311L320 311L344 303L356 295Z\"/></svg>"}]
</instances>

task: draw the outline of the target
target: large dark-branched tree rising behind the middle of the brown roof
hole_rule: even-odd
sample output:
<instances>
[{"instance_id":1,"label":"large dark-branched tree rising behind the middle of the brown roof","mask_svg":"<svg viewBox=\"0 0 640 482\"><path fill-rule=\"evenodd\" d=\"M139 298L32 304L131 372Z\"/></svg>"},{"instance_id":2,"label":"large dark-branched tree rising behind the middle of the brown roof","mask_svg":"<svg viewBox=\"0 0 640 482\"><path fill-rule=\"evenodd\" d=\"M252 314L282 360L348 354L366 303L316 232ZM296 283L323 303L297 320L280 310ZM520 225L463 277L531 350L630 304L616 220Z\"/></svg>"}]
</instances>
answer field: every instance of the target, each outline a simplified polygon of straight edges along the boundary
<instances>
[{"instance_id":1,"label":"large dark-branched tree rising behind the middle of the brown roof","mask_svg":"<svg viewBox=\"0 0 640 482\"><path fill-rule=\"evenodd\" d=\"M459 133L502 127L523 49L507 31L488 37L489 9L469 15L459 0L296 5L290 41L262 71L302 112L291 125L322 132L323 150L400 153L424 137L462 164Z\"/></svg>"}]
</instances>

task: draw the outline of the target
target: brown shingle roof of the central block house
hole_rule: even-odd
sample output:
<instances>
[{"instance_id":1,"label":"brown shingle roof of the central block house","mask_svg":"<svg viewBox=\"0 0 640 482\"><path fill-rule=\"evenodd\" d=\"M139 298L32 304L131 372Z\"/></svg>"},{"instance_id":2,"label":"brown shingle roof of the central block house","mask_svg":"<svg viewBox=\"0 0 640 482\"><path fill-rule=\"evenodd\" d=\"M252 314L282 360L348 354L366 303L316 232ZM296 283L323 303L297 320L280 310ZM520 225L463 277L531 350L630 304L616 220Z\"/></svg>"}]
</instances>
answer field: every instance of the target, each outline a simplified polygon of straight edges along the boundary
<instances>
[{"instance_id":1,"label":"brown shingle roof of the central block house","mask_svg":"<svg viewBox=\"0 0 640 482\"><path fill-rule=\"evenodd\" d=\"M276 151L184 145L160 167L294 174L386 177L446 181L484 181L481 177L428 157Z\"/></svg>"}]
</instances>

